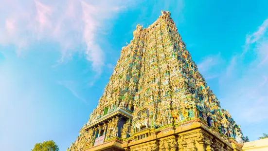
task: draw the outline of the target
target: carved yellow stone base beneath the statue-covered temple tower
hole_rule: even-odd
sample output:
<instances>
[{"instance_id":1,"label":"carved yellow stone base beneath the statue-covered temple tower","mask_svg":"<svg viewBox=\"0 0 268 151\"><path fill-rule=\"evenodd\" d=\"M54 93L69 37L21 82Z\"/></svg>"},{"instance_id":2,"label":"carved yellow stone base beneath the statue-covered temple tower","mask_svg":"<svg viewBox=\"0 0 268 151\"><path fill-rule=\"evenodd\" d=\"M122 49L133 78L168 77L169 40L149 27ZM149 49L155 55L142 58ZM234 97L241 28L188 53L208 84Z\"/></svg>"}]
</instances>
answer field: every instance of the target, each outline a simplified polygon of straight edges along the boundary
<instances>
[{"instance_id":1,"label":"carved yellow stone base beneath the statue-covered temple tower","mask_svg":"<svg viewBox=\"0 0 268 151\"><path fill-rule=\"evenodd\" d=\"M160 129L147 129L129 138L114 137L84 151L243 151L233 139L209 128L200 119L181 125L167 124Z\"/></svg>"}]
</instances>

